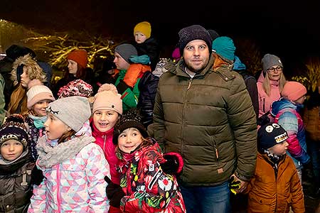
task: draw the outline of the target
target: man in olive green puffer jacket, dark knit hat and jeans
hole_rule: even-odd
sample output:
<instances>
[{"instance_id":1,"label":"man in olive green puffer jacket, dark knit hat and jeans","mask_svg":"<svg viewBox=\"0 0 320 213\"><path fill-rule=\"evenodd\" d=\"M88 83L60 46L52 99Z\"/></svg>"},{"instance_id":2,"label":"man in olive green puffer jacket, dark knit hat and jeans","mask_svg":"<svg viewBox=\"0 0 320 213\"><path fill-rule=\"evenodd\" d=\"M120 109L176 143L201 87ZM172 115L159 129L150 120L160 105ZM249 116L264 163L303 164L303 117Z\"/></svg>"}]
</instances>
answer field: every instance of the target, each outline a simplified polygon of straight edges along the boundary
<instances>
[{"instance_id":1,"label":"man in olive green puffer jacket, dark knit hat and jeans","mask_svg":"<svg viewBox=\"0 0 320 213\"><path fill-rule=\"evenodd\" d=\"M241 192L255 171L255 111L233 61L211 55L205 28L183 28L179 39L183 59L159 80L154 138L183 157L187 212L230 212L228 180L240 180Z\"/></svg>"}]
</instances>

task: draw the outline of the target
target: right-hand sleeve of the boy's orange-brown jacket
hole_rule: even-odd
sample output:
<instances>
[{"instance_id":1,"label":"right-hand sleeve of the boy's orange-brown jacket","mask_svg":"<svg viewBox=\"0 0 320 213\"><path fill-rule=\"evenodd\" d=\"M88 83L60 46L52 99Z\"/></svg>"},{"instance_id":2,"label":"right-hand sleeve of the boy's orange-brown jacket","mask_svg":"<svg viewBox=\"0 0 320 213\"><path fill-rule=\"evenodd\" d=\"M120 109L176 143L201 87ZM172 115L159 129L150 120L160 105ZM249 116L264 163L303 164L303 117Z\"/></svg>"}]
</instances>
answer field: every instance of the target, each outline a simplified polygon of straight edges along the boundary
<instances>
[{"instance_id":1,"label":"right-hand sleeve of the boy's orange-brown jacket","mask_svg":"<svg viewBox=\"0 0 320 213\"><path fill-rule=\"evenodd\" d=\"M294 174L292 175L292 178L290 180L290 193L292 196L292 210L293 210L293 212L306 212L304 209L304 193L302 192L302 185L301 185L297 170L295 169L296 166L294 165L292 159L289 159L289 160L291 161L291 166L293 168L292 170L294 172Z\"/></svg>"}]
</instances>

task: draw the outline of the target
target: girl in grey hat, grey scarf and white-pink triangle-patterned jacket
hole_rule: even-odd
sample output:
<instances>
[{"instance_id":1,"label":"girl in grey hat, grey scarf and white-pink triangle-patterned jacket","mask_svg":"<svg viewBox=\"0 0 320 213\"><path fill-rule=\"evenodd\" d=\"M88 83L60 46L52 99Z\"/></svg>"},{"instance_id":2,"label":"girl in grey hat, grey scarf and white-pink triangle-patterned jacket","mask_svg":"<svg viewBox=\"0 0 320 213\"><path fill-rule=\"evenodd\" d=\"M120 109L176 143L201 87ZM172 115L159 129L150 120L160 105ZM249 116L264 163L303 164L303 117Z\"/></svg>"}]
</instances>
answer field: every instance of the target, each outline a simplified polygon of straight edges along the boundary
<instances>
[{"instance_id":1,"label":"girl in grey hat, grey scarf and white-pink triangle-patterned jacket","mask_svg":"<svg viewBox=\"0 0 320 213\"><path fill-rule=\"evenodd\" d=\"M87 98L58 99L46 110L46 136L36 146L44 179L34 186L28 212L108 212L107 160L95 138L77 136L91 116Z\"/></svg>"}]
</instances>

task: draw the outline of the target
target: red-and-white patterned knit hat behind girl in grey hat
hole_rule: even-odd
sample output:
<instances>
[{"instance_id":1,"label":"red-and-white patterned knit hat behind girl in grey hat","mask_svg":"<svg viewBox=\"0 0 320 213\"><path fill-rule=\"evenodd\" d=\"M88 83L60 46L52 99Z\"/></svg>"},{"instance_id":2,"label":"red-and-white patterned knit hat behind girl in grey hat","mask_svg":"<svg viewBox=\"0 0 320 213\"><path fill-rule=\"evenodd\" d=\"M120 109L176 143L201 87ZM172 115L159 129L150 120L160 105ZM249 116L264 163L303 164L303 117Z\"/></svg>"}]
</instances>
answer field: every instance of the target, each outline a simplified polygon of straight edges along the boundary
<instances>
[{"instance_id":1,"label":"red-and-white patterned knit hat behind girl in grey hat","mask_svg":"<svg viewBox=\"0 0 320 213\"><path fill-rule=\"evenodd\" d=\"M70 96L81 96L81 97L92 97L93 87L91 84L87 84L83 80L73 80L67 85L61 87L58 91L58 98L70 97Z\"/></svg>"}]
</instances>

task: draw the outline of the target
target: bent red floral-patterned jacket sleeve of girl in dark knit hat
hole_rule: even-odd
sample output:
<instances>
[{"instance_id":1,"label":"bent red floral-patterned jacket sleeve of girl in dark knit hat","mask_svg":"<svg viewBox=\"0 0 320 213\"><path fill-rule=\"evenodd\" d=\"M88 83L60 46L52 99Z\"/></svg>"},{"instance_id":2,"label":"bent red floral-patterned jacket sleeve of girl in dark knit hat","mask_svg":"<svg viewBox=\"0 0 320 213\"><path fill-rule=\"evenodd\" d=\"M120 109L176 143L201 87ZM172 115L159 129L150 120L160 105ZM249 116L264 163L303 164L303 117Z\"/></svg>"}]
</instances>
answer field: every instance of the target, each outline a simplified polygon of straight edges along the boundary
<instances>
[{"instance_id":1,"label":"bent red floral-patterned jacket sleeve of girl in dark knit hat","mask_svg":"<svg viewBox=\"0 0 320 213\"><path fill-rule=\"evenodd\" d=\"M176 196L176 181L160 169L159 162L164 161L160 153L150 151L140 160L143 163L139 163L141 168L137 168L137 181L142 180L144 187L132 195L122 197L120 209L122 212L140 212L141 209L144 212L162 212L160 209L164 210L172 197Z\"/></svg>"}]
</instances>

